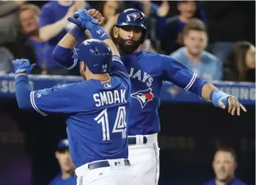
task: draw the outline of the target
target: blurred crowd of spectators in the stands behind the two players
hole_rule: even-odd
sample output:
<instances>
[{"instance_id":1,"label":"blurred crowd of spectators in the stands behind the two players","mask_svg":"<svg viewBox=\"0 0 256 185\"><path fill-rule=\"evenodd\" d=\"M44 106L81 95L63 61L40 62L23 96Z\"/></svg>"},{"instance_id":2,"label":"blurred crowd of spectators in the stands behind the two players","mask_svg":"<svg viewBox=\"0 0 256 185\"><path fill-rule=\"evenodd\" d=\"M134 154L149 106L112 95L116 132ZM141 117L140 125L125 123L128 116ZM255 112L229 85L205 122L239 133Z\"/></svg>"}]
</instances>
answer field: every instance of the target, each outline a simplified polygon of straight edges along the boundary
<instances>
[{"instance_id":1,"label":"blurred crowd of spectators in the stands behind the two players","mask_svg":"<svg viewBox=\"0 0 256 185\"><path fill-rule=\"evenodd\" d=\"M118 13L131 7L148 18L141 49L169 55L206 80L255 82L255 1L0 1L0 73L27 58L36 63L33 74L75 75L52 57L74 27L67 18L95 8L112 35Z\"/></svg>"}]
</instances>

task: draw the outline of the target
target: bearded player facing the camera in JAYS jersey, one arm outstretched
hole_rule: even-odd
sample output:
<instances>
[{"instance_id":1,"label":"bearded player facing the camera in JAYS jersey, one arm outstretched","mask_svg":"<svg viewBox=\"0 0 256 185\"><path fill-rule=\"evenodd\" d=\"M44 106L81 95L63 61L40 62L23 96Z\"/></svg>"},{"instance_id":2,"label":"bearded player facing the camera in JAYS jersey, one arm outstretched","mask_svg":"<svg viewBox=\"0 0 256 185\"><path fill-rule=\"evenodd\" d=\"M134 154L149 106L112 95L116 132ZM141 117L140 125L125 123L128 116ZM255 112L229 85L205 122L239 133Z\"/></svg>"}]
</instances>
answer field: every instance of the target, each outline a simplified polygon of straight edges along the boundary
<instances>
[{"instance_id":1,"label":"bearded player facing the camera in JAYS jersey, one arm outstretched","mask_svg":"<svg viewBox=\"0 0 256 185\"><path fill-rule=\"evenodd\" d=\"M101 20L100 15L96 17L97 21ZM219 108L227 108L232 115L239 116L240 109L246 111L246 108L235 97L219 91L171 57L140 50L139 46L144 42L146 32L146 17L135 9L124 10L113 29L121 60L127 68L132 85L127 125L129 160L136 174L135 184L155 185L159 178L158 132L161 130L158 108L164 81L174 83L184 91L198 94ZM74 69L76 62L65 57L64 53L73 48L72 43L77 39L78 33L78 30L75 34L67 33L53 52L55 60L67 69ZM69 40L67 37L73 39Z\"/></svg>"}]
</instances>

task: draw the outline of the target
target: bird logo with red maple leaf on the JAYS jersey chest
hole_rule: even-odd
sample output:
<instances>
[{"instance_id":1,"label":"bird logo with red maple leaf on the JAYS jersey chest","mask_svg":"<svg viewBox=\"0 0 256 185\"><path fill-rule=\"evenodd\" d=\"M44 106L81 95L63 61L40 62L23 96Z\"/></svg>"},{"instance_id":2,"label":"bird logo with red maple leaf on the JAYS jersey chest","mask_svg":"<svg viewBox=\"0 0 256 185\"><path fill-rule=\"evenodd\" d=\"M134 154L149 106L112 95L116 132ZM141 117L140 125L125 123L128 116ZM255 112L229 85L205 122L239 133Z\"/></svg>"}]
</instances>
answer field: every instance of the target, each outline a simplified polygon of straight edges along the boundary
<instances>
[{"instance_id":1,"label":"bird logo with red maple leaf on the JAYS jersey chest","mask_svg":"<svg viewBox=\"0 0 256 185\"><path fill-rule=\"evenodd\" d=\"M148 88L132 93L131 97L137 99L141 103L141 108L144 108L147 102L153 100L154 94L152 94L152 88Z\"/></svg>"}]
</instances>

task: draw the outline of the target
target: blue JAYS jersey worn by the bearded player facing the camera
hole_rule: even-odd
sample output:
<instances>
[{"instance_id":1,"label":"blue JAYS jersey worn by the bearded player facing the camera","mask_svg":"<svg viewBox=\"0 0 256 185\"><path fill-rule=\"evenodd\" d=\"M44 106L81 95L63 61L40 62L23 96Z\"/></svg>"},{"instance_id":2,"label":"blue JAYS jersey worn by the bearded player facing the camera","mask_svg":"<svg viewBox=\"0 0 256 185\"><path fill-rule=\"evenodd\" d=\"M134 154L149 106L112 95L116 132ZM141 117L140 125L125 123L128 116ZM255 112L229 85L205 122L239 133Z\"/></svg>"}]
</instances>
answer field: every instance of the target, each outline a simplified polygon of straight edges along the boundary
<instances>
[{"instance_id":1,"label":"blue JAYS jersey worn by the bearded player facing the camera","mask_svg":"<svg viewBox=\"0 0 256 185\"><path fill-rule=\"evenodd\" d=\"M55 48L61 58L55 58L62 66L73 69L77 61L72 59L75 50ZM60 56L60 55L59 55ZM131 82L131 109L128 120L128 135L146 135L160 131L158 108L161 88L169 81L184 91L192 91L201 96L201 88L206 83L198 74L189 70L177 60L166 55L141 50L132 55L121 56Z\"/></svg>"}]
</instances>

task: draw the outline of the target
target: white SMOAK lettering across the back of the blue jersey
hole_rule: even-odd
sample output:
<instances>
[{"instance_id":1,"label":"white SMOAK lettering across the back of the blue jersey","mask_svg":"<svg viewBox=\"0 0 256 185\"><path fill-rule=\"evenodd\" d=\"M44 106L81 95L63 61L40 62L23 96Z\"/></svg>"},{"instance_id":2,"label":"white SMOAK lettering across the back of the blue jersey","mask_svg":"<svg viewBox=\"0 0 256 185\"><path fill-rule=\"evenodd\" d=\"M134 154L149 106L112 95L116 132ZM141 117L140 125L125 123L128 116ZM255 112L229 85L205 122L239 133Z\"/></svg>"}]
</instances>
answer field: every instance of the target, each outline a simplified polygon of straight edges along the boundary
<instances>
[{"instance_id":1,"label":"white SMOAK lettering across the back of the blue jersey","mask_svg":"<svg viewBox=\"0 0 256 185\"><path fill-rule=\"evenodd\" d=\"M125 89L119 89L114 91L104 91L100 93L93 94L93 100L95 101L96 107L101 107L104 105L111 105L114 103L124 103L127 102L125 98Z\"/></svg>"}]
</instances>

